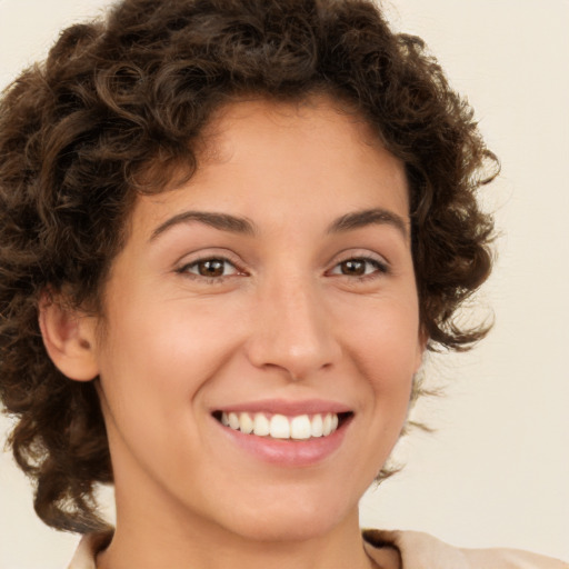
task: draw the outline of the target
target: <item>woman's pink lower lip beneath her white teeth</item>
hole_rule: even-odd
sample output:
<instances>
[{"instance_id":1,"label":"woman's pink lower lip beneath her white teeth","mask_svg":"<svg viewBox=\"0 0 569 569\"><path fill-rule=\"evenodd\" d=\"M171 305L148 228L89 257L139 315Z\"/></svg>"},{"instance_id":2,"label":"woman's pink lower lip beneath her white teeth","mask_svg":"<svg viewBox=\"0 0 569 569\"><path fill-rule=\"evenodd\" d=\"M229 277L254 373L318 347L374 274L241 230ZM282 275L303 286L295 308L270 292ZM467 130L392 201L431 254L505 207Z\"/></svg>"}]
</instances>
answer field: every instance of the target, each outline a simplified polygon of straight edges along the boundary
<instances>
[{"instance_id":1,"label":"woman's pink lower lip beneath her white teeth","mask_svg":"<svg viewBox=\"0 0 569 569\"><path fill-rule=\"evenodd\" d=\"M291 440L244 435L241 431L224 427L217 419L213 420L222 429L226 437L256 458L263 462L296 468L317 465L337 451L351 422L351 418L347 419L328 437Z\"/></svg>"}]
</instances>

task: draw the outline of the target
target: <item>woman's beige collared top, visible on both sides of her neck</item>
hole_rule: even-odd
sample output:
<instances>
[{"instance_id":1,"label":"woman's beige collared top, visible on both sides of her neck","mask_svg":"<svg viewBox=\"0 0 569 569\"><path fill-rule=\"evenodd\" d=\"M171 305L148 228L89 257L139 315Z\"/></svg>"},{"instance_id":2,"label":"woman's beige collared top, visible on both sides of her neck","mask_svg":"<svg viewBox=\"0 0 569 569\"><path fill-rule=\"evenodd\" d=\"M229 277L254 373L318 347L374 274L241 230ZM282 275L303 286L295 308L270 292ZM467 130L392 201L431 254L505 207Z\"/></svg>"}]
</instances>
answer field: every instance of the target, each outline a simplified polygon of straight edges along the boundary
<instances>
[{"instance_id":1,"label":"woman's beige collared top, visible on both sides of her neck","mask_svg":"<svg viewBox=\"0 0 569 569\"><path fill-rule=\"evenodd\" d=\"M96 569L94 557L111 537L84 536L68 569ZM380 567L396 553L399 569L569 569L563 561L516 549L455 548L419 531L365 530L363 540L368 556Z\"/></svg>"}]
</instances>

